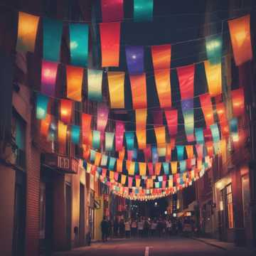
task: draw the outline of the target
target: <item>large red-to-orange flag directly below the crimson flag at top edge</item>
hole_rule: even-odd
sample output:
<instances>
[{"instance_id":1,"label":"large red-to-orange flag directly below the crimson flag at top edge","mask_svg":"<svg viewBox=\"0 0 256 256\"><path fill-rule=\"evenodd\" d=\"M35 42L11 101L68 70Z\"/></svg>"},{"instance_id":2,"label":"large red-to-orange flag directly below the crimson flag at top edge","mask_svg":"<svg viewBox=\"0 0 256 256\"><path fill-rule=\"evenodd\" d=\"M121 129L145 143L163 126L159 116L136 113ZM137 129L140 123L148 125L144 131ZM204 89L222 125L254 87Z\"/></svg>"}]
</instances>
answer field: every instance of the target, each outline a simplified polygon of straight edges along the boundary
<instances>
[{"instance_id":1,"label":"large red-to-orange flag directly below the crimson flag at top edge","mask_svg":"<svg viewBox=\"0 0 256 256\"><path fill-rule=\"evenodd\" d=\"M119 66L120 22L100 23L102 68Z\"/></svg>"}]
</instances>

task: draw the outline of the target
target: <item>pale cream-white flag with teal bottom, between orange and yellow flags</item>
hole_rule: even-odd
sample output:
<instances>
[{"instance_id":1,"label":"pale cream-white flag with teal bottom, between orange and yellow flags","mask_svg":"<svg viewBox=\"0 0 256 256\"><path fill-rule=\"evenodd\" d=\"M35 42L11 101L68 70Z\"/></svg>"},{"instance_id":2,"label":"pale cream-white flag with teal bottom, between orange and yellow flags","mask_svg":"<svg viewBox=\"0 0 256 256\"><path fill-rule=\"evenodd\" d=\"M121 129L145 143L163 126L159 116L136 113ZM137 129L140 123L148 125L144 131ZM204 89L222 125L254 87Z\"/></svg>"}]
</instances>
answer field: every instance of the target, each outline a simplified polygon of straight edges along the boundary
<instances>
[{"instance_id":1,"label":"pale cream-white flag with teal bottom, between orange and yellow flags","mask_svg":"<svg viewBox=\"0 0 256 256\"><path fill-rule=\"evenodd\" d=\"M88 100L102 102L102 73L103 70L87 70Z\"/></svg>"}]
</instances>

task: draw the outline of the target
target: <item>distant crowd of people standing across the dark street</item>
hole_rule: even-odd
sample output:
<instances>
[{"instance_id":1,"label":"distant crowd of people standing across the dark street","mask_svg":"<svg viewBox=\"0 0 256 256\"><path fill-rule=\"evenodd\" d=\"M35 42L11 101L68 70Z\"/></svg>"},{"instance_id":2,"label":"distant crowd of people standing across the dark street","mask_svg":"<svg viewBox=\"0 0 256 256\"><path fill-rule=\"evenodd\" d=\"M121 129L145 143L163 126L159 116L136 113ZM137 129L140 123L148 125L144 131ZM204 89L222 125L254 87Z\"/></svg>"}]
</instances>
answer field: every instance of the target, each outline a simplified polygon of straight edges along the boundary
<instances>
[{"instance_id":1,"label":"distant crowd of people standing across the dark street","mask_svg":"<svg viewBox=\"0 0 256 256\"><path fill-rule=\"evenodd\" d=\"M107 237L114 238L149 238L171 236L181 233L183 223L171 218L145 218L127 219L123 218L114 221L103 218L102 220L102 240L105 242Z\"/></svg>"}]
</instances>

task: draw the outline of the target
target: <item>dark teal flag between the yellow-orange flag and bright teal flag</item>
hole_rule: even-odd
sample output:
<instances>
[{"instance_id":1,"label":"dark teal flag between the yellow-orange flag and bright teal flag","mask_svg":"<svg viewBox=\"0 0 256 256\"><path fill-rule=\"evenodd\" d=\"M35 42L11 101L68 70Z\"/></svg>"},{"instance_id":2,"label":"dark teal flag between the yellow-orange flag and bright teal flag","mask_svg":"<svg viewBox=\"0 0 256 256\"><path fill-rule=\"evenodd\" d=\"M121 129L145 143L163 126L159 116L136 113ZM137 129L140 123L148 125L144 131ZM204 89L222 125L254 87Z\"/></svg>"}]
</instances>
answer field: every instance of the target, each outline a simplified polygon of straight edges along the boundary
<instances>
[{"instance_id":1,"label":"dark teal flag between the yellow-orange flag and bright teal flag","mask_svg":"<svg viewBox=\"0 0 256 256\"><path fill-rule=\"evenodd\" d=\"M43 60L60 61L62 21L43 18Z\"/></svg>"}]
</instances>

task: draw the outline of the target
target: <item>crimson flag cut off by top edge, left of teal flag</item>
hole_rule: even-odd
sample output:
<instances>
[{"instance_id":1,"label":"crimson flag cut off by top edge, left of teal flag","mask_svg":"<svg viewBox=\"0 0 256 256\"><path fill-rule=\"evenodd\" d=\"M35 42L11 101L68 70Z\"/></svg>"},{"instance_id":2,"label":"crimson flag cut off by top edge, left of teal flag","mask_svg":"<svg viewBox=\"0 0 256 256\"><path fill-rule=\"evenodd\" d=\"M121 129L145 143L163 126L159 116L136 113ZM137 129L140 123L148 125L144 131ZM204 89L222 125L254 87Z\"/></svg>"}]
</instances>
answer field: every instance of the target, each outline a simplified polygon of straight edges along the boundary
<instances>
[{"instance_id":1,"label":"crimson flag cut off by top edge, left of teal flag","mask_svg":"<svg viewBox=\"0 0 256 256\"><path fill-rule=\"evenodd\" d=\"M101 0L102 22L122 21L123 0Z\"/></svg>"}]
</instances>

